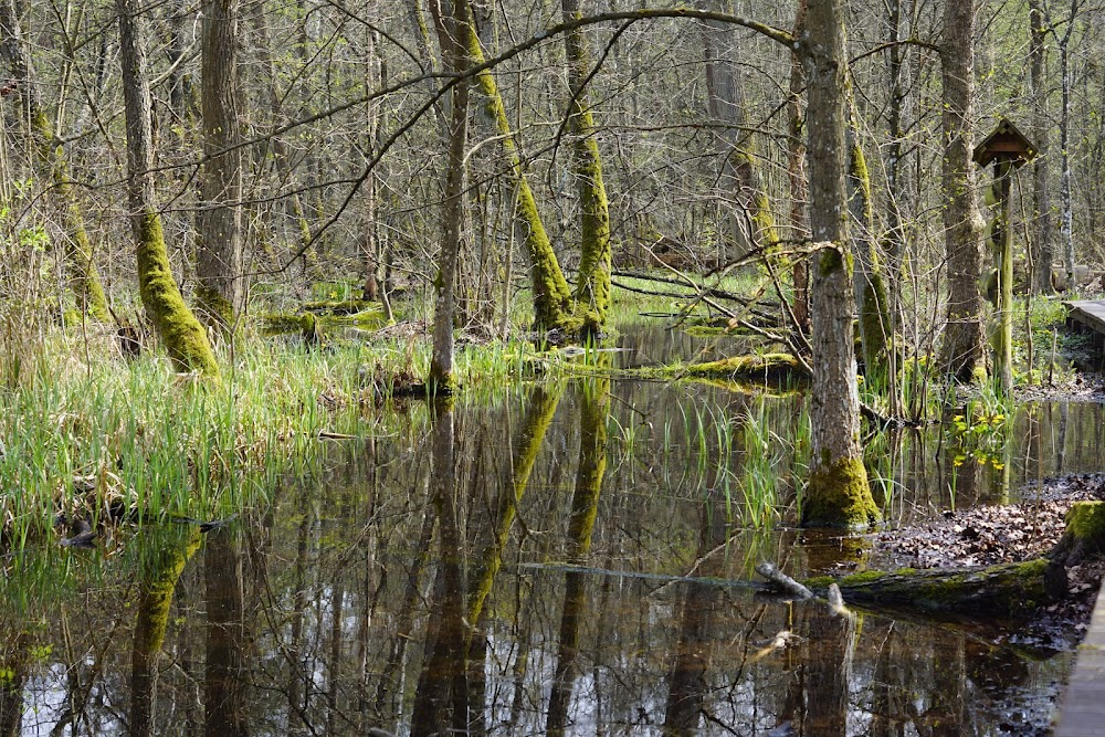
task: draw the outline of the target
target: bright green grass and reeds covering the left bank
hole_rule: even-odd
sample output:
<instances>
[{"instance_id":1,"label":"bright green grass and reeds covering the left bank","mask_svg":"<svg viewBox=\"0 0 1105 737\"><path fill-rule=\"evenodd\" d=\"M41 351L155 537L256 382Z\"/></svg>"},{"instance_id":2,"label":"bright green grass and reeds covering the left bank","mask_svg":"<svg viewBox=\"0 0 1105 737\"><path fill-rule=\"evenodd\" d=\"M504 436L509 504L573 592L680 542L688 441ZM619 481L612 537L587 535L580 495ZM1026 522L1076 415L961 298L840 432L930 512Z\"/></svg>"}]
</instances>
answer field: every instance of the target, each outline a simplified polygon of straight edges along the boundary
<instances>
[{"instance_id":1,"label":"bright green grass and reeds covering the left bank","mask_svg":"<svg viewBox=\"0 0 1105 737\"><path fill-rule=\"evenodd\" d=\"M220 352L219 380L173 373L155 350L125 360L110 335L36 341L0 386L0 540L44 539L62 518L94 525L213 517L263 504L281 476L335 439L424 424L364 386L373 372L424 371L418 340L324 348L245 336ZM462 382L503 387L509 346L462 351ZM494 391L496 389L493 389ZM398 400L396 400L398 401Z\"/></svg>"}]
</instances>

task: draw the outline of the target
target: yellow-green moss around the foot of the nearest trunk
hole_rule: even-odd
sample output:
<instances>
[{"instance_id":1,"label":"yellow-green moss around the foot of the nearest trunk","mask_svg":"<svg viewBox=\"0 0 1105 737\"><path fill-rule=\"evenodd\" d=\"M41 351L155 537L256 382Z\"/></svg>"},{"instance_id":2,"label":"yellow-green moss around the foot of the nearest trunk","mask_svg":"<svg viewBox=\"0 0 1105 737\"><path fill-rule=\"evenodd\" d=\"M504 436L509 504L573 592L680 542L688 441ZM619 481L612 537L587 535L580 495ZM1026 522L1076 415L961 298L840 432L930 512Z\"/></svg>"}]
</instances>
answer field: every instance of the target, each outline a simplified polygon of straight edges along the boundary
<instances>
[{"instance_id":1,"label":"yellow-green moss around the foot of the nearest trunk","mask_svg":"<svg viewBox=\"0 0 1105 737\"><path fill-rule=\"evenodd\" d=\"M802 503L802 526L856 529L880 517L861 459L833 463L822 457L810 472Z\"/></svg>"}]
</instances>

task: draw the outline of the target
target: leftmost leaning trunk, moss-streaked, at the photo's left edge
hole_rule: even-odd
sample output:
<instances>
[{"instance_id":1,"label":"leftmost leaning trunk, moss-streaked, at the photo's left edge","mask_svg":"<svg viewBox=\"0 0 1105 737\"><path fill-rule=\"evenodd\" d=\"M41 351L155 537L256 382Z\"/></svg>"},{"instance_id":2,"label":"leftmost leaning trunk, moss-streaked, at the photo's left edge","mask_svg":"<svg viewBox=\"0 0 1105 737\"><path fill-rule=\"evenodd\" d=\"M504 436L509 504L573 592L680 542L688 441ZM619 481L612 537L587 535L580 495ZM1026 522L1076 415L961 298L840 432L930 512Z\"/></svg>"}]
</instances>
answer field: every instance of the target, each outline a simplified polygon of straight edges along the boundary
<instances>
[{"instance_id":1,"label":"leftmost leaning trunk, moss-streaked, at the photo's left edge","mask_svg":"<svg viewBox=\"0 0 1105 737\"><path fill-rule=\"evenodd\" d=\"M73 182L62 143L50 125L50 118L42 106L34 67L27 56L13 0L0 0L0 56L3 57L19 95L20 118L29 126L29 137L39 166L48 172L53 182L53 199L61 211L65 231L65 261L72 271L73 295L77 309L88 316L107 320L110 314L107 298L99 280L99 272L93 261L92 240L84 227L81 206L73 193Z\"/></svg>"}]
</instances>

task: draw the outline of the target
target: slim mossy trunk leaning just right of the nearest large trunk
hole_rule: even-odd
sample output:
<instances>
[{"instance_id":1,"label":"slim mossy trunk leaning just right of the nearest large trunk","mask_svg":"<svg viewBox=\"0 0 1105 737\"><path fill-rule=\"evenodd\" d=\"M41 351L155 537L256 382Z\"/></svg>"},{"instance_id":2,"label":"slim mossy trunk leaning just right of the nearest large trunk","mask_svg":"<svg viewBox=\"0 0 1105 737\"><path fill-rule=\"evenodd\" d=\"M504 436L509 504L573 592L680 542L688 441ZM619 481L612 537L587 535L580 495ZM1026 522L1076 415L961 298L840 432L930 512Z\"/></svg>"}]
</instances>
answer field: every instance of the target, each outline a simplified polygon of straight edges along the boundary
<instances>
[{"instance_id":1,"label":"slim mossy trunk leaning just right of the nearest large trunk","mask_svg":"<svg viewBox=\"0 0 1105 737\"><path fill-rule=\"evenodd\" d=\"M875 243L875 215L871 201L871 176L863 148L855 136L855 110L851 110L849 128L848 197L852 229L852 271L856 314L860 316L860 340L863 345L864 371L870 376L886 376L890 365L891 318L886 285Z\"/></svg>"}]
</instances>

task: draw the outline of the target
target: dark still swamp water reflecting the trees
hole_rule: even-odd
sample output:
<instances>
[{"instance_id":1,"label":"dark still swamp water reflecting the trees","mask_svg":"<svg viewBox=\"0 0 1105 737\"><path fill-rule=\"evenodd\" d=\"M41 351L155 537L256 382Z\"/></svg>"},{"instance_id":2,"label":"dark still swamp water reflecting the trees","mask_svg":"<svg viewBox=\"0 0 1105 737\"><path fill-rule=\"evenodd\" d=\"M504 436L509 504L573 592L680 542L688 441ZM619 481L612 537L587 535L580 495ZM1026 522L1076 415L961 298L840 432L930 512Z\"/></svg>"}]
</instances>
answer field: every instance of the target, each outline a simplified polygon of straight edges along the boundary
<instances>
[{"instance_id":1,"label":"dark still swamp water reflecting the trees","mask_svg":"<svg viewBox=\"0 0 1105 737\"><path fill-rule=\"evenodd\" d=\"M225 526L27 549L0 734L1043 734L1071 653L743 585L870 545L790 526L803 401L580 378L411 404ZM872 439L891 524L1099 470L1099 406L1011 428L961 453L939 428Z\"/></svg>"}]
</instances>

